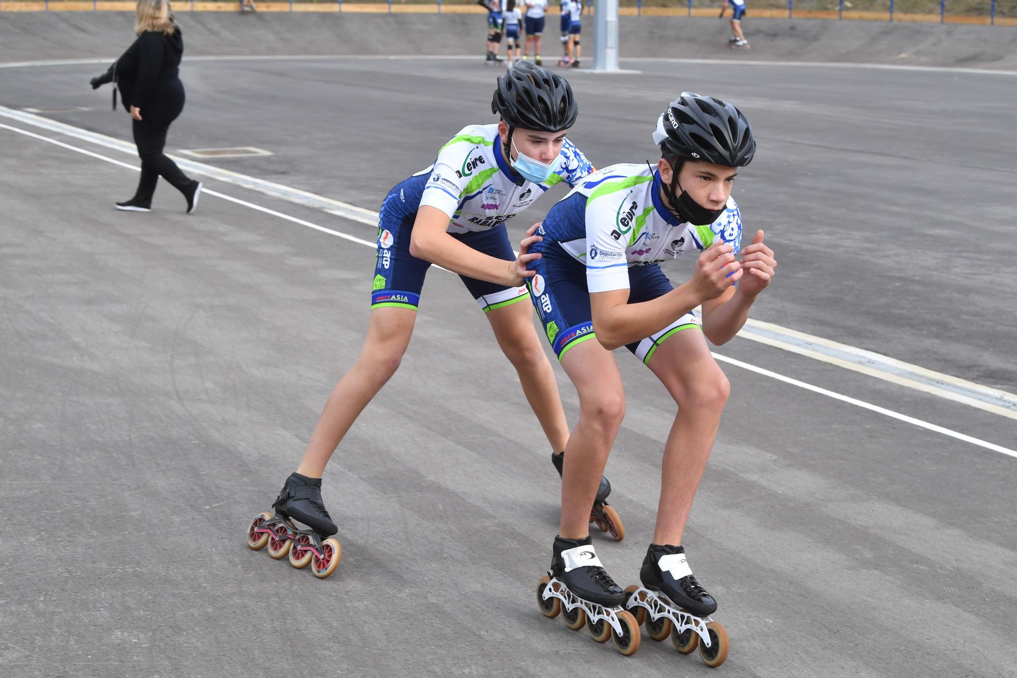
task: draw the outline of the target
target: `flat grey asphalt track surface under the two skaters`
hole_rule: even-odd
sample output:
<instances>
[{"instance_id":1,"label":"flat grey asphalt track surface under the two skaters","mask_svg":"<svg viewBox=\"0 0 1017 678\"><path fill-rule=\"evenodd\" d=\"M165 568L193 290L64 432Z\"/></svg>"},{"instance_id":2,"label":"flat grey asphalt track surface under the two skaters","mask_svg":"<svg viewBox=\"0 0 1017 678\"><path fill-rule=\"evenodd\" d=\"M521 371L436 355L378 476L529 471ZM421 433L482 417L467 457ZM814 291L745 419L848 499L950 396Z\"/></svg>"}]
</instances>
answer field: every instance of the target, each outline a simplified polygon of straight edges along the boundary
<instances>
[{"instance_id":1,"label":"flat grey asphalt track surface under the two skaters","mask_svg":"<svg viewBox=\"0 0 1017 678\"><path fill-rule=\"evenodd\" d=\"M112 52L113 50L111 50ZM735 197L780 262L757 319L1014 390L1009 74L626 62L572 76L598 166L653 160L680 90L760 138ZM97 65L0 70L0 105L129 139ZM496 72L444 59L185 63L170 150L376 210L468 122ZM0 117L136 165L136 158ZM631 659L537 610L558 479L515 374L456 276L432 270L403 366L325 473L339 571L242 532L297 463L368 320L369 226L234 185L183 214L118 213L136 173L0 127L0 668L11 676L707 675L645 634ZM518 236L554 196L515 220ZM691 261L667 267L676 281ZM740 338L717 352L1006 448L1013 418ZM594 535L622 585L653 532L674 405L618 353L608 463L629 533ZM732 383L685 545L732 638L727 676L1013 676L1017 460L722 363ZM556 368L571 422L575 391Z\"/></svg>"}]
</instances>

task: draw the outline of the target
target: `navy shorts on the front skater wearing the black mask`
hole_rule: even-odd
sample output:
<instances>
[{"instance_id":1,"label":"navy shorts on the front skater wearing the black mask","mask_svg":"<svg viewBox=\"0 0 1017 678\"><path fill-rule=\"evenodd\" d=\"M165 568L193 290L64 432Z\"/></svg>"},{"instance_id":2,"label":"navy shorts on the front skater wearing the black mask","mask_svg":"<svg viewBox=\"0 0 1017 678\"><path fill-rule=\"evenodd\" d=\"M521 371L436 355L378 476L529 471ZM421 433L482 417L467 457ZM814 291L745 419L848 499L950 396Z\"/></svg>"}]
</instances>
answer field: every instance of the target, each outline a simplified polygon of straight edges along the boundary
<instances>
[{"instance_id":1,"label":"navy shorts on the front skater wearing the black mask","mask_svg":"<svg viewBox=\"0 0 1017 678\"><path fill-rule=\"evenodd\" d=\"M540 233L538 229L537 233ZM544 326L554 354L561 356L576 344L596 337L590 312L590 290L586 285L586 266L576 261L556 242L536 242L531 252L542 258L530 262L528 269L537 275L530 278L530 300ZM629 303L656 299L672 289L671 281L657 264L629 267ZM636 357L649 363L657 347L681 330L699 329L693 314L685 314L660 332L625 345Z\"/></svg>"}]
</instances>

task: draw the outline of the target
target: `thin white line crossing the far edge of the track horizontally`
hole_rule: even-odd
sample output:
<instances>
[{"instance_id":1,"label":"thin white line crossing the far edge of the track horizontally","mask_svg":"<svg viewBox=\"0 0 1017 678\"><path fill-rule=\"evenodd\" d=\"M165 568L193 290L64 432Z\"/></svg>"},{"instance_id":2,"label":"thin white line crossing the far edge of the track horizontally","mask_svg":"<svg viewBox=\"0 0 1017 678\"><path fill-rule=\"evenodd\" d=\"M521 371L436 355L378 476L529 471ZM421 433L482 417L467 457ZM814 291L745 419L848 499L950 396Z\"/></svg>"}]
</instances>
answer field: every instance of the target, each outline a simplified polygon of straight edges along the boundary
<instances>
[{"instance_id":1,"label":"thin white line crossing the far edge of the track horizontally","mask_svg":"<svg viewBox=\"0 0 1017 678\"><path fill-rule=\"evenodd\" d=\"M255 54L249 56L192 56L187 61L476 61L477 57L470 54L422 54L422 55L370 55L370 54L335 54L335 55L299 55ZM112 64L116 57L102 59L41 59L39 61L7 61L0 62L0 68L35 68L40 66L76 66L79 64ZM967 75L1017 75L1017 70L995 68L962 68L958 66L912 66L895 63L850 63L847 61L768 61L765 59L681 59L672 57L621 57L621 62L643 61L660 63L703 64L714 66L782 66L792 68L860 68L862 70L902 70L929 73L963 73ZM576 74L595 73L593 70L580 70ZM619 72L619 71L614 71ZM621 71L639 72L639 71Z\"/></svg>"}]
</instances>

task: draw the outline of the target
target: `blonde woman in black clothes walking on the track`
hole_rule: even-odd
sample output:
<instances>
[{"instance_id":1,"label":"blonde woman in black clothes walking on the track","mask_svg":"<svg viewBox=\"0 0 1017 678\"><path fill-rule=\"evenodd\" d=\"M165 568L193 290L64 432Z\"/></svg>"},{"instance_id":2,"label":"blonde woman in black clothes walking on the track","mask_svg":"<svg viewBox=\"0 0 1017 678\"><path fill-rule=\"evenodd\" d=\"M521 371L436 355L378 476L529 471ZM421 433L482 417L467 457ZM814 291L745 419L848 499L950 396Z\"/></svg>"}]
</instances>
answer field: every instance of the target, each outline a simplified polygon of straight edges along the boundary
<instances>
[{"instance_id":1,"label":"blonde woman in black clothes walking on the track","mask_svg":"<svg viewBox=\"0 0 1017 678\"><path fill-rule=\"evenodd\" d=\"M118 210L148 212L159 177L169 181L187 199L187 213L197 207L201 183L189 179L166 157L166 133L184 109L184 86L180 81L180 57L184 41L170 11L169 0L138 0L137 40L110 66L92 79L96 89L111 80L120 89L124 108L130 112L141 179L134 196L117 203ZM116 91L113 93L116 106Z\"/></svg>"}]
</instances>

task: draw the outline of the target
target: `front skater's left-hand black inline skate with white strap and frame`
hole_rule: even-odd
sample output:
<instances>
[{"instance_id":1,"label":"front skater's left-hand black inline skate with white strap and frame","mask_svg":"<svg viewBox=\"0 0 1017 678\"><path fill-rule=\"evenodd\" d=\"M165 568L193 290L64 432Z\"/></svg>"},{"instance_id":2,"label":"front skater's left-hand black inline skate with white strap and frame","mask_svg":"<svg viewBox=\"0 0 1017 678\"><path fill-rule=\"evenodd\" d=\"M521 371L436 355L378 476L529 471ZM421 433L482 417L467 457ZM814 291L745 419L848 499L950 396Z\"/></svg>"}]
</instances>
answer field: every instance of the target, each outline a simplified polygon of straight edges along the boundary
<instances>
[{"instance_id":1,"label":"front skater's left-hand black inline skate with white strap and frame","mask_svg":"<svg viewBox=\"0 0 1017 678\"><path fill-rule=\"evenodd\" d=\"M636 617L620 607L625 598L604 570L589 536L554 539L551 569L537 583L537 603L545 617L561 614L574 631L585 624L594 640L612 638L614 648L629 657L639 649L640 630Z\"/></svg>"}]
</instances>

